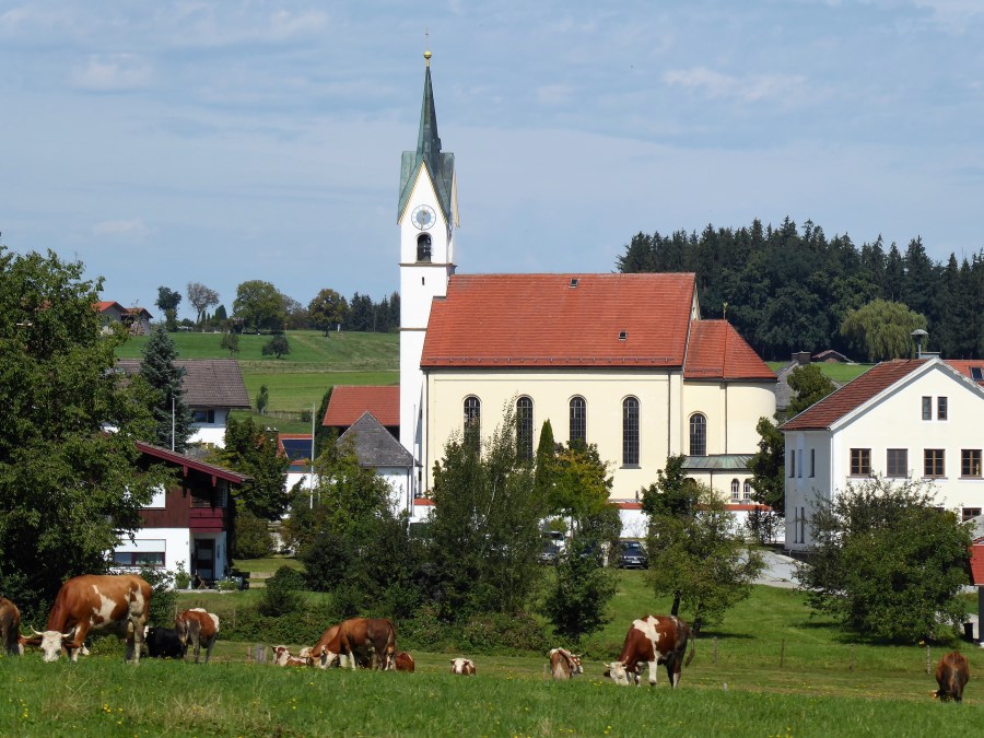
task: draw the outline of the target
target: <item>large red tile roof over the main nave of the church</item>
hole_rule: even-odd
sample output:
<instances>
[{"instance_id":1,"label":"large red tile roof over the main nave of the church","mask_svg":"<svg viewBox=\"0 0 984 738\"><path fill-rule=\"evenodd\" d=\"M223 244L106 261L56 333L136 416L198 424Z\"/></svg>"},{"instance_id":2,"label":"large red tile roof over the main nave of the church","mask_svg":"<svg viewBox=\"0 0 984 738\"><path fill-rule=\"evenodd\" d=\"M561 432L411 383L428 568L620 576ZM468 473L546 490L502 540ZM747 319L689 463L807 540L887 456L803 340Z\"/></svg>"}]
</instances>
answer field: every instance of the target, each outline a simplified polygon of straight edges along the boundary
<instances>
[{"instance_id":1,"label":"large red tile roof over the main nave of the church","mask_svg":"<svg viewBox=\"0 0 984 738\"><path fill-rule=\"evenodd\" d=\"M421 365L682 366L693 295L691 273L456 274Z\"/></svg>"}]
</instances>

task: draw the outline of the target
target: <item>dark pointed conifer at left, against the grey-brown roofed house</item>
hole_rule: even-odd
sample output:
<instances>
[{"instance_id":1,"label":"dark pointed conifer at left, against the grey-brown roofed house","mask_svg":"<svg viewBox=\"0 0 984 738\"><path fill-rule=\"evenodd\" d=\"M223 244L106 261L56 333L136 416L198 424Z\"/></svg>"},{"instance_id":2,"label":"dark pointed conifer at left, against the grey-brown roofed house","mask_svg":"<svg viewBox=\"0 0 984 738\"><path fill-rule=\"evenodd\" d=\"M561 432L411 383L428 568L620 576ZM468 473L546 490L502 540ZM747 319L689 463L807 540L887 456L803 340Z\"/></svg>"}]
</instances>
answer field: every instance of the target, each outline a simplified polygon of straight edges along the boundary
<instances>
[{"instance_id":1,"label":"dark pointed conifer at left, against the grey-brown roofed house","mask_svg":"<svg viewBox=\"0 0 984 738\"><path fill-rule=\"evenodd\" d=\"M157 393L152 412L156 427L147 441L183 452L195 433L191 409L185 402L184 367L174 362L177 350L163 326L155 327L143 347L140 376Z\"/></svg>"}]
</instances>

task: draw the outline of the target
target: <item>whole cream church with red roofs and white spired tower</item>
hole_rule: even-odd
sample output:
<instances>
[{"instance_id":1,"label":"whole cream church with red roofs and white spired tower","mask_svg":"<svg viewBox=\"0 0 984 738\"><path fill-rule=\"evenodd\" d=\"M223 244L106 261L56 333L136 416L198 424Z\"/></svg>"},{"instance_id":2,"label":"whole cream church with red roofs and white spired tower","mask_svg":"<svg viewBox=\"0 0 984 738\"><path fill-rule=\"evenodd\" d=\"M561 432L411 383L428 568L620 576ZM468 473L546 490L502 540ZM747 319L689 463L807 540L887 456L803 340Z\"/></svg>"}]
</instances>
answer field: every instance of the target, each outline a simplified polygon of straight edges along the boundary
<instances>
[{"instance_id":1,"label":"whole cream church with red roofs and white spired tower","mask_svg":"<svg viewBox=\"0 0 984 738\"><path fill-rule=\"evenodd\" d=\"M701 319L692 273L457 273L455 156L442 151L424 58L397 210L399 438L417 470L407 496L426 497L449 437L470 424L488 437L508 405L527 454L548 419L557 442L596 444L623 508L679 454L740 506L775 374L726 320Z\"/></svg>"}]
</instances>

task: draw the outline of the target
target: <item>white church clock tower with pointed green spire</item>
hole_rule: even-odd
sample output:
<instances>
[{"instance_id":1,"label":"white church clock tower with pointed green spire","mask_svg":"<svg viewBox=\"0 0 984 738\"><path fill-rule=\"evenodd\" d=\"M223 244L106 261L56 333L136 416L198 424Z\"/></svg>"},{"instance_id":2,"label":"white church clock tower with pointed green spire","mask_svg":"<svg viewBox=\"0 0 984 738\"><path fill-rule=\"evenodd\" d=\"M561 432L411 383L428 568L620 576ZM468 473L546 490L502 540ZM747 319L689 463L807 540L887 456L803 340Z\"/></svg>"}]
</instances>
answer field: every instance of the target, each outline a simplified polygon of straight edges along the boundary
<instances>
[{"instance_id":1,"label":"white church clock tower with pointed green spire","mask_svg":"<svg viewBox=\"0 0 984 738\"><path fill-rule=\"evenodd\" d=\"M424 51L424 94L417 150L400 166L400 443L415 461L422 449L423 352L431 302L447 295L455 273L458 197L455 155L442 153L431 87L431 52Z\"/></svg>"}]
</instances>

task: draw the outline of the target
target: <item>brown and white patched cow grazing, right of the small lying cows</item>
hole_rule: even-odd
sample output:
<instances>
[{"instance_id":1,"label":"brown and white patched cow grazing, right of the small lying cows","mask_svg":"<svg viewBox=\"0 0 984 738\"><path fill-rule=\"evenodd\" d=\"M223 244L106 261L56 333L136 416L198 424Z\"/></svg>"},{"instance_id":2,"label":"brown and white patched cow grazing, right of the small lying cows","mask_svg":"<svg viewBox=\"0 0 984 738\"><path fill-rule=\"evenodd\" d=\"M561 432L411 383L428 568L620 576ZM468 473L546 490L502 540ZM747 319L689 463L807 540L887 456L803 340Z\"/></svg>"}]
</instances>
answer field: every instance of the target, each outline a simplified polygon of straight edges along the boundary
<instances>
[{"instance_id":1,"label":"brown and white patched cow grazing, right of the small lying cows","mask_svg":"<svg viewBox=\"0 0 984 738\"><path fill-rule=\"evenodd\" d=\"M687 661L687 641L691 648ZM649 684L656 686L656 671L659 664L666 664L670 686L680 683L680 671L690 666L693 658L694 640L690 628L675 616L647 616L632 621L632 628L625 634L625 643L619 658L608 664L605 676L617 684L629 684L630 680L640 682L640 664L649 665Z\"/></svg>"}]
</instances>

